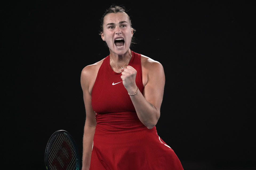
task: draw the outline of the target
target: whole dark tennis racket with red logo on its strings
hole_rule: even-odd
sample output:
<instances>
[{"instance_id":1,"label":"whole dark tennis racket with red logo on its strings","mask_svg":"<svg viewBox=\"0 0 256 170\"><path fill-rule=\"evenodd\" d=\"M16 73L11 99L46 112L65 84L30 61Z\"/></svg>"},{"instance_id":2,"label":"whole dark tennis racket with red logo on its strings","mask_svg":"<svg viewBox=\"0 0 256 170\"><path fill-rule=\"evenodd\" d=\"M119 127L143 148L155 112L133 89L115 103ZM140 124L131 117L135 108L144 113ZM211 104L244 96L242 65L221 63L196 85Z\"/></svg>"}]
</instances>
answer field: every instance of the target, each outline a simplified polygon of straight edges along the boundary
<instances>
[{"instance_id":1,"label":"whole dark tennis racket with red logo on its strings","mask_svg":"<svg viewBox=\"0 0 256 170\"><path fill-rule=\"evenodd\" d=\"M54 132L45 149L47 170L80 170L80 157L72 136L65 130Z\"/></svg>"}]
</instances>

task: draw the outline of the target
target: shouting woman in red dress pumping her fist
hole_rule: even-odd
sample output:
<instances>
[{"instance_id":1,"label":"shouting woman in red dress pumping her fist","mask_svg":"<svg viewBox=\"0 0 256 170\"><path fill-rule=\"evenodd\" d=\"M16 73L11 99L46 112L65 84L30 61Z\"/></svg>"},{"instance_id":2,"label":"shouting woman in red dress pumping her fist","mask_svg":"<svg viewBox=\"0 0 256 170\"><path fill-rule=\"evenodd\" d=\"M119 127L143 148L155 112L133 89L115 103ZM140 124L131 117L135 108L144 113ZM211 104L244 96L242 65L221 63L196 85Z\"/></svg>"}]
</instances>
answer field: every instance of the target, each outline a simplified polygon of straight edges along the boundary
<instances>
[{"instance_id":1,"label":"shouting woman in red dress pumping her fist","mask_svg":"<svg viewBox=\"0 0 256 170\"><path fill-rule=\"evenodd\" d=\"M130 49L134 29L124 8L107 9L101 29L110 54L81 73L82 170L183 169L155 128L165 85L162 65Z\"/></svg>"}]
</instances>

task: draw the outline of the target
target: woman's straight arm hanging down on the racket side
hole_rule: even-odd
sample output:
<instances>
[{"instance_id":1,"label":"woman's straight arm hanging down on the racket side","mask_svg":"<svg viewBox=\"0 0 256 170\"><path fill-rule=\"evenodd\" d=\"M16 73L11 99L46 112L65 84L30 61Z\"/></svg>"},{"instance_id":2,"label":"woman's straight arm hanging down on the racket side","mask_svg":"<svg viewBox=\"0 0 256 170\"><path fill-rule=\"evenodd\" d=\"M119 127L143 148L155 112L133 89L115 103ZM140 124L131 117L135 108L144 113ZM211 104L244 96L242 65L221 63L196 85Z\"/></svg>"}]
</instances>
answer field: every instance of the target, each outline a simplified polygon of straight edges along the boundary
<instances>
[{"instance_id":1,"label":"woman's straight arm hanging down on the racket side","mask_svg":"<svg viewBox=\"0 0 256 170\"><path fill-rule=\"evenodd\" d=\"M93 80L93 74L90 74L92 70L90 66L85 67L81 73L81 87L83 90L83 100L85 103L86 120L83 132L83 158L82 158L82 170L89 170L91 162L91 152L93 147L93 137L95 133L96 120L95 112L91 106L91 94L90 86ZM93 83L94 84L94 83Z\"/></svg>"}]
</instances>

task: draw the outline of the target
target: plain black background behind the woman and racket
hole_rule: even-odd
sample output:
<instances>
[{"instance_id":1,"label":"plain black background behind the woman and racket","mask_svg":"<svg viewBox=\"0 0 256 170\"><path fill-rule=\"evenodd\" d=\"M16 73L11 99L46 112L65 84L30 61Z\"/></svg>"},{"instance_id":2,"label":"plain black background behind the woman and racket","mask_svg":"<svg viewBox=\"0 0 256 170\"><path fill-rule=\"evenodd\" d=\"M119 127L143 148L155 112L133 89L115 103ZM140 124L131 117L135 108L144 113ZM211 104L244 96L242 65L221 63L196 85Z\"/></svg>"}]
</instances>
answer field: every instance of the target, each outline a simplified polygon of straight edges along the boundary
<instances>
[{"instance_id":1,"label":"plain black background behind the woman and racket","mask_svg":"<svg viewBox=\"0 0 256 170\"><path fill-rule=\"evenodd\" d=\"M56 130L82 156L80 74L109 54L98 35L111 2L1 3L2 162L45 169ZM255 6L240 1L118 2L132 19L131 48L162 63L158 135L184 169L254 169Z\"/></svg>"}]
</instances>

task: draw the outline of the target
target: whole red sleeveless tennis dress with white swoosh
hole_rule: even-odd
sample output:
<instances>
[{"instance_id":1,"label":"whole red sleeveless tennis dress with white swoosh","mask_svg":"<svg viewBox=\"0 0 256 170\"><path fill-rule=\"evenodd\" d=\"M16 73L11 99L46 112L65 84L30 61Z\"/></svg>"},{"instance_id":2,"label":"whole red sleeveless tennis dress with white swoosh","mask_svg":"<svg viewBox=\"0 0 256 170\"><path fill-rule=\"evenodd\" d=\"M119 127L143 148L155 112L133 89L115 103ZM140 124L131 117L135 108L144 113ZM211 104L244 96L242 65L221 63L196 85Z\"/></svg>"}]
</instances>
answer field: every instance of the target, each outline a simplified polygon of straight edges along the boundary
<instances>
[{"instance_id":1,"label":"whole red sleeveless tennis dress with white swoosh","mask_svg":"<svg viewBox=\"0 0 256 170\"><path fill-rule=\"evenodd\" d=\"M96 129L91 170L183 169L174 151L139 120L123 86L121 74L110 67L107 56L99 68L92 90ZM141 54L132 52L129 65L137 70L136 84L143 94Z\"/></svg>"}]
</instances>

